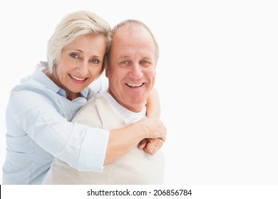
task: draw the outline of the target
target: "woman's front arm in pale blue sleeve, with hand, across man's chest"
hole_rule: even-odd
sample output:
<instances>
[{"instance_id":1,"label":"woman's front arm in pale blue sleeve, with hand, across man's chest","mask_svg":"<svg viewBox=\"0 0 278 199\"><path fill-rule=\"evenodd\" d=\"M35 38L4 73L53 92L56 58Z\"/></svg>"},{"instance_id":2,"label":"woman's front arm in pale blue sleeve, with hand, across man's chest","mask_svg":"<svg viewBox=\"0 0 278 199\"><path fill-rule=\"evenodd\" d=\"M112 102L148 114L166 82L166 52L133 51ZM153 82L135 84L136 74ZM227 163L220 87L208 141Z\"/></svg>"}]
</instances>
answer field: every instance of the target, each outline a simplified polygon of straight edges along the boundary
<instances>
[{"instance_id":1,"label":"woman's front arm in pale blue sleeve, with hand, across man's chest","mask_svg":"<svg viewBox=\"0 0 278 199\"><path fill-rule=\"evenodd\" d=\"M112 131L68 122L46 97L33 90L13 92L8 115L8 123L14 121L9 125L9 136L28 134L42 149L78 171L102 171L103 162L112 163L142 139L164 140L166 133L163 123L155 118Z\"/></svg>"}]
</instances>

